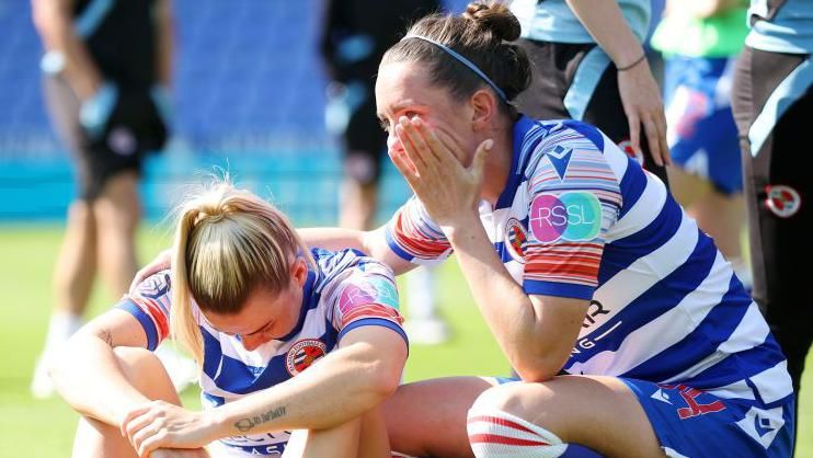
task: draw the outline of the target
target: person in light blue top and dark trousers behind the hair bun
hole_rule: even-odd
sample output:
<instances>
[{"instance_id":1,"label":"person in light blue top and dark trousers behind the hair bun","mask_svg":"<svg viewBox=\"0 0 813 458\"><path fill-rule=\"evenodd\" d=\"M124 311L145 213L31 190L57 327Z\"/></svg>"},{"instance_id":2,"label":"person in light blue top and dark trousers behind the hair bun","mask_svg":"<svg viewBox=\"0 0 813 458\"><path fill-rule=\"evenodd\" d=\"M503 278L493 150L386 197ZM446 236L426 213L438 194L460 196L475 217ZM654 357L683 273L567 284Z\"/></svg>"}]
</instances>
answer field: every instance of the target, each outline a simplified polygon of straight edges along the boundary
<instances>
[{"instance_id":1,"label":"person in light blue top and dark trousers behind the hair bun","mask_svg":"<svg viewBox=\"0 0 813 458\"><path fill-rule=\"evenodd\" d=\"M642 46L650 0L514 0L511 11L534 66L519 111L589 123L667 183L663 102Z\"/></svg>"}]
</instances>

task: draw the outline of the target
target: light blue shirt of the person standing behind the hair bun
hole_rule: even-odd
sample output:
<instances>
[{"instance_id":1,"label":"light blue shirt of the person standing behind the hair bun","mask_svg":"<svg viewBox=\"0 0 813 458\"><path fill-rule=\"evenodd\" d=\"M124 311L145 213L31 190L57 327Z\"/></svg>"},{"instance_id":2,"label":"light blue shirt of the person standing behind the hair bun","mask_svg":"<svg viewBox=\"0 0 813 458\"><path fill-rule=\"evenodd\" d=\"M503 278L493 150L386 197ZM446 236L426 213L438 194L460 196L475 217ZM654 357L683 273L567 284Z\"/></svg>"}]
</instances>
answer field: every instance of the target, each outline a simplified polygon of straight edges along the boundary
<instances>
[{"instance_id":1,"label":"light blue shirt of the person standing behind the hair bun","mask_svg":"<svg viewBox=\"0 0 813 458\"><path fill-rule=\"evenodd\" d=\"M618 4L632 33L643 42L652 15L650 0L618 0ZM515 0L511 11L523 26L524 38L556 43L595 42L564 0Z\"/></svg>"}]
</instances>

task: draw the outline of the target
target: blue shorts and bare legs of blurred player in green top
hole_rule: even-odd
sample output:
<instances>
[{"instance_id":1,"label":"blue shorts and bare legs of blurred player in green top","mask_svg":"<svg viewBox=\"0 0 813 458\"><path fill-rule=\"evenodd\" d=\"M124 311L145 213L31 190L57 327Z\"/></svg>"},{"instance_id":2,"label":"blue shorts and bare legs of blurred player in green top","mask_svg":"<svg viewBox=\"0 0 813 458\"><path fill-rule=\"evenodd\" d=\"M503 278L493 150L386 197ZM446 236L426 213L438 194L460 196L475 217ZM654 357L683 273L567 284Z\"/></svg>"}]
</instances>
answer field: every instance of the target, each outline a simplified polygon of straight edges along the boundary
<instances>
[{"instance_id":1,"label":"blue shorts and bare legs of blurred player in green top","mask_svg":"<svg viewBox=\"0 0 813 458\"><path fill-rule=\"evenodd\" d=\"M675 162L668 172L675 198L751 288L742 252L742 160L730 103L733 68L734 59L726 57L666 59L667 141Z\"/></svg>"}]
</instances>

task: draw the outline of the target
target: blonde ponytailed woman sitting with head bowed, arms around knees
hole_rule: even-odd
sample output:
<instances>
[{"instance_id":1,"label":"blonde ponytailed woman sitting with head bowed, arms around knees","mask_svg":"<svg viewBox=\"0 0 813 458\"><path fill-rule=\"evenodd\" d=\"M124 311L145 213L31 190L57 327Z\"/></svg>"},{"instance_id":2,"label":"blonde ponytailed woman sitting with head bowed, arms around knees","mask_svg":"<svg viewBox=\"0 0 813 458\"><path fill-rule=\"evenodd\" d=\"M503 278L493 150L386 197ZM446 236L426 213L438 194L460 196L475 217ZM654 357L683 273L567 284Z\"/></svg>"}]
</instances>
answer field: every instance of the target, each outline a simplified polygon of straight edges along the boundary
<instances>
[{"instance_id":1,"label":"blonde ponytailed woman sitting with head bowed, arms around knees","mask_svg":"<svg viewBox=\"0 0 813 458\"><path fill-rule=\"evenodd\" d=\"M172 256L51 369L83 415L75 458L207 456L208 444L277 456L293 430L307 433L286 457L389 457L377 407L408 352L389 267L307 250L283 214L228 182L188 198ZM168 335L201 365L202 412L180 407L150 353Z\"/></svg>"}]
</instances>

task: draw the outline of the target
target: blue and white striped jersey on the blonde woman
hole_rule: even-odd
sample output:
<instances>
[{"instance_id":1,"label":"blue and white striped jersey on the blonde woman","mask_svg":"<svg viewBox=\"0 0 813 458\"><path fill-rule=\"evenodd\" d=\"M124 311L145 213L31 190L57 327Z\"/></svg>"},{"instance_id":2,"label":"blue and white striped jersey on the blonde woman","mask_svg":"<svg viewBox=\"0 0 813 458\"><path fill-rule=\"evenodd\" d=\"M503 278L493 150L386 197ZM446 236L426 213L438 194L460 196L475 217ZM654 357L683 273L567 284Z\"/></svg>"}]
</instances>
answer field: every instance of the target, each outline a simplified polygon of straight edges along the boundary
<instances>
[{"instance_id":1,"label":"blue and white striped jersey on the blonde woman","mask_svg":"<svg viewBox=\"0 0 813 458\"><path fill-rule=\"evenodd\" d=\"M239 336L213 328L193 304L204 337L199 382L205 407L218 407L290 379L358 327L386 327L406 340L389 267L353 250L314 249L312 254L317 267L308 273L299 322L280 340L247 351ZM149 350L169 334L171 297L170 271L162 271L117 305L141 323ZM276 455L283 453L288 437L288 432L280 431L228 437L220 445L227 446L229 456Z\"/></svg>"}]
</instances>

